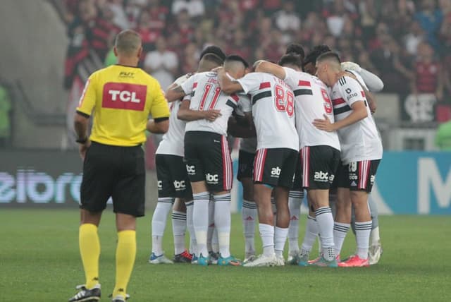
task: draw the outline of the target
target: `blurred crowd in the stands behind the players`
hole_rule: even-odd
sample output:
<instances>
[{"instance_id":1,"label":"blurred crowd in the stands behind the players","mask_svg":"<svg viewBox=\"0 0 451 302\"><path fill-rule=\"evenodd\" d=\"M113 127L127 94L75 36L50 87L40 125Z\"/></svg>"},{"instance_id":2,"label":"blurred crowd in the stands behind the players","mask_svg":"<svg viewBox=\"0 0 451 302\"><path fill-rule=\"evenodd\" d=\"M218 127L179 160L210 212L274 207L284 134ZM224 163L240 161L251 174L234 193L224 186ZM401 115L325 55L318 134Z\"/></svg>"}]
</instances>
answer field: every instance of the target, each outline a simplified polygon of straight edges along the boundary
<instances>
[{"instance_id":1,"label":"blurred crowd in the stands behind the players","mask_svg":"<svg viewBox=\"0 0 451 302\"><path fill-rule=\"evenodd\" d=\"M114 63L114 35L132 28L144 41L142 68L162 87L194 71L209 44L253 62L277 61L299 42L307 52L327 44L379 75L384 92L451 104L451 0L66 0L66 22L68 89Z\"/></svg>"}]
</instances>

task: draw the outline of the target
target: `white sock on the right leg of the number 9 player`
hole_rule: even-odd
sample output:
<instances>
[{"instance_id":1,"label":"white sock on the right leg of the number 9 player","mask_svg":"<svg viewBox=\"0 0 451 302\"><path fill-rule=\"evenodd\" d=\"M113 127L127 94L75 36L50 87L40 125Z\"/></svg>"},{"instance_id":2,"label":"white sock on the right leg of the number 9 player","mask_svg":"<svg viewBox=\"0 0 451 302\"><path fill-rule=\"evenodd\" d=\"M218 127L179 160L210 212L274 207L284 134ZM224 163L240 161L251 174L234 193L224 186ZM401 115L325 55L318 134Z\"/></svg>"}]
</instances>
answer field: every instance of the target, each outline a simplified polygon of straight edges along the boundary
<instances>
[{"instance_id":1,"label":"white sock on the right leg of the number 9 player","mask_svg":"<svg viewBox=\"0 0 451 302\"><path fill-rule=\"evenodd\" d=\"M330 261L335 258L333 250L333 217L330 207L320 207L315 211L316 222L321 234L321 252Z\"/></svg>"}]
</instances>

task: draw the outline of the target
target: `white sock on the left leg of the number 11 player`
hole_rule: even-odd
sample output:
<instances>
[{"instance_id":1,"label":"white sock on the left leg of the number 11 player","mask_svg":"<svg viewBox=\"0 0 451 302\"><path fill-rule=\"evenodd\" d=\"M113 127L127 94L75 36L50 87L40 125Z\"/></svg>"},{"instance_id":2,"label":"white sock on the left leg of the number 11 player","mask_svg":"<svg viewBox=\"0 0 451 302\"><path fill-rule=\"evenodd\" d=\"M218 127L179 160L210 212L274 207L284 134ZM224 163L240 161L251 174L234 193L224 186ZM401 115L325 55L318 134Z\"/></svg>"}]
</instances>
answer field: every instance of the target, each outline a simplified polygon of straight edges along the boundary
<instances>
[{"instance_id":1,"label":"white sock on the left leg of the number 11 player","mask_svg":"<svg viewBox=\"0 0 451 302\"><path fill-rule=\"evenodd\" d=\"M206 233L209 229L209 200L210 194L202 192L192 195L194 198L194 210L192 211L192 222L196 233L197 253L206 257L209 251L206 249Z\"/></svg>"}]
</instances>

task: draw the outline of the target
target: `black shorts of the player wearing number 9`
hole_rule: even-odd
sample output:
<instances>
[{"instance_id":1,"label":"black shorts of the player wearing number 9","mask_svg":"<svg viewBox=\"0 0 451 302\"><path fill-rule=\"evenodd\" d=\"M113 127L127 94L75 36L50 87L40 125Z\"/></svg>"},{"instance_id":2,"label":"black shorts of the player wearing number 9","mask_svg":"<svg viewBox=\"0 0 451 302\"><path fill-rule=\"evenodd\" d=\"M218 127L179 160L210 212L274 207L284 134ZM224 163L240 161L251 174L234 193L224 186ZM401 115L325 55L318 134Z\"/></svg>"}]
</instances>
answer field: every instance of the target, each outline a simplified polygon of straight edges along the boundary
<instances>
[{"instance_id":1,"label":"black shorts of the player wearing number 9","mask_svg":"<svg viewBox=\"0 0 451 302\"><path fill-rule=\"evenodd\" d=\"M328 145L306 146L301 150L303 183L311 190L328 190L340 163L340 151Z\"/></svg>"}]
</instances>

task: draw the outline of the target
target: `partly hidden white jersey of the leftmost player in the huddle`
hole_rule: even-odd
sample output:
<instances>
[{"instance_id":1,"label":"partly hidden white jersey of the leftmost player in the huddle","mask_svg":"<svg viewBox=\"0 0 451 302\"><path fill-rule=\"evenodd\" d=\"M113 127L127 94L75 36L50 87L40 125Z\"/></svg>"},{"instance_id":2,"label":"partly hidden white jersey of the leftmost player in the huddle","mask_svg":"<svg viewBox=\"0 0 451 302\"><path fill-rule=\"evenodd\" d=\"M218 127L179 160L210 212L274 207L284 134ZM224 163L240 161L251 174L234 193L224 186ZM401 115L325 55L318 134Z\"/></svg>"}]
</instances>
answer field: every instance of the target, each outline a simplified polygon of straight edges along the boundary
<instances>
[{"instance_id":1,"label":"partly hidden white jersey of the leftmost player in the huddle","mask_svg":"<svg viewBox=\"0 0 451 302\"><path fill-rule=\"evenodd\" d=\"M175 80L175 83L181 85L190 78L192 73L187 73L182 75L180 78ZM184 99L190 99L189 95L186 95ZM177 155L184 156L184 143L185 138L185 121L177 118L177 112L180 108L180 100L171 102L171 116L169 116L169 129L163 135L163 140L161 140L158 148L156 149L156 154L166 154L166 155Z\"/></svg>"}]
</instances>

